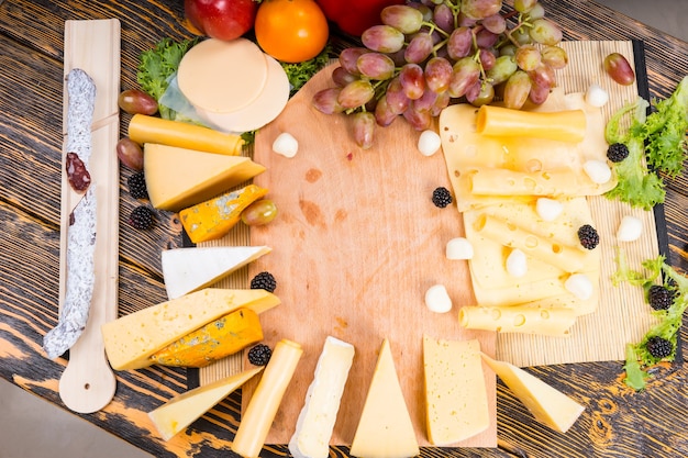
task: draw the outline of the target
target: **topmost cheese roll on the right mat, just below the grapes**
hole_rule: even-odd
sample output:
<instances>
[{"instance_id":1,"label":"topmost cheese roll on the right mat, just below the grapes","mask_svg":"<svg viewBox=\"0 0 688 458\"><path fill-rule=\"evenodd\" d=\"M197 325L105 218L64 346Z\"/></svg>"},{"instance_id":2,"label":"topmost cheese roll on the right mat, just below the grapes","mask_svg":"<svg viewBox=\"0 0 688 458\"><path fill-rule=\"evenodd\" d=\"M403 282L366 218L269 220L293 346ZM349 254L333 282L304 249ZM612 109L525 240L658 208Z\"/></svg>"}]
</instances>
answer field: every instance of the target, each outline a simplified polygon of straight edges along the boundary
<instances>
[{"instance_id":1,"label":"topmost cheese roll on the right mat, just below the grapes","mask_svg":"<svg viewBox=\"0 0 688 458\"><path fill-rule=\"evenodd\" d=\"M586 114L582 110L532 112L482 105L476 118L476 132L490 136L579 143L586 135Z\"/></svg>"}]
</instances>

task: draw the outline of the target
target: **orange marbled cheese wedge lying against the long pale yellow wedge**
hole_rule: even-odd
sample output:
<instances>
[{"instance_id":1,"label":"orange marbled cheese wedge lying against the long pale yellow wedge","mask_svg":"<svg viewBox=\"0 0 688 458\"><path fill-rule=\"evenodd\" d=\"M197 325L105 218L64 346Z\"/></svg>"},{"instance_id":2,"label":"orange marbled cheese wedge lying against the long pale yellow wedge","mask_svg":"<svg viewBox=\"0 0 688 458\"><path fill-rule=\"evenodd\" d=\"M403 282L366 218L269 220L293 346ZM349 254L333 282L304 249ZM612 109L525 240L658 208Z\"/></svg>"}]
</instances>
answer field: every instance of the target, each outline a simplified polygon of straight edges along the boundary
<instances>
[{"instance_id":1,"label":"orange marbled cheese wedge lying against the long pale yellow wedge","mask_svg":"<svg viewBox=\"0 0 688 458\"><path fill-rule=\"evenodd\" d=\"M258 314L240 309L193 331L151 356L153 362L176 367L206 367L263 340Z\"/></svg>"}]
</instances>

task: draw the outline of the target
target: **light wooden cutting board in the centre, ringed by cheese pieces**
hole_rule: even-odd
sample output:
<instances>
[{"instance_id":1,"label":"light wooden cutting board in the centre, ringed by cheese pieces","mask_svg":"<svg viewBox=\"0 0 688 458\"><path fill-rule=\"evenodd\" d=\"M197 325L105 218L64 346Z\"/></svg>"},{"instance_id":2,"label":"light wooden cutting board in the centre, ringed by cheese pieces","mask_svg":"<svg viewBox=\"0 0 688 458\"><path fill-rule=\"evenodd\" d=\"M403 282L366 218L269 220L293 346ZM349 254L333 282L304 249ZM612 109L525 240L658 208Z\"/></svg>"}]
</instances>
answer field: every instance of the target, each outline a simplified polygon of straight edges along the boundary
<instances>
[{"instance_id":1,"label":"light wooden cutting board in the centre, ringed by cheese pieces","mask_svg":"<svg viewBox=\"0 0 688 458\"><path fill-rule=\"evenodd\" d=\"M266 343L300 343L299 362L273 425L268 444L289 442L324 339L353 344L356 356L344 392L333 445L351 444L384 338L389 338L418 440L428 445L424 422L422 337L478 338L495 353L496 336L463 329L462 304L474 303L466 261L450 261L446 243L463 234L453 206L436 208L437 187L451 189L442 152L424 157L419 132L402 119L378 129L375 145L353 142L351 118L325 115L311 107L313 94L333 86L333 66L313 77L277 120L256 135L254 159L267 171L254 182L269 190L279 214L252 227L251 244L273 252L249 266L249 277L267 270L277 279L282 304L260 315ZM278 134L299 141L285 158L271 150ZM430 312L424 293L444 284L454 302L446 314ZM491 426L462 446L497 443L496 381L486 369ZM244 387L244 406L255 381Z\"/></svg>"}]
</instances>

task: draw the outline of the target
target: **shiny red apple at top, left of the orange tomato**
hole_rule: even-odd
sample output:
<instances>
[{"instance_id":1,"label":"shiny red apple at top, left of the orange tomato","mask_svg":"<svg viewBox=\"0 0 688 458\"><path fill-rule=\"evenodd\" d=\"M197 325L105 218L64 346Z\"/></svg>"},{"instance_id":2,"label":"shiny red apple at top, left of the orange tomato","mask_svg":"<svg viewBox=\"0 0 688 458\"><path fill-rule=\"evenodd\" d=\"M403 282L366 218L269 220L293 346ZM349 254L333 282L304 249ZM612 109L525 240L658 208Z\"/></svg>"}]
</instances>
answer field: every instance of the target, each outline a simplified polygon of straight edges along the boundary
<instances>
[{"instance_id":1,"label":"shiny red apple at top, left of the orange tomato","mask_svg":"<svg viewBox=\"0 0 688 458\"><path fill-rule=\"evenodd\" d=\"M189 22L203 34L229 41L253 29L258 3L254 0L185 0L184 10Z\"/></svg>"}]
</instances>

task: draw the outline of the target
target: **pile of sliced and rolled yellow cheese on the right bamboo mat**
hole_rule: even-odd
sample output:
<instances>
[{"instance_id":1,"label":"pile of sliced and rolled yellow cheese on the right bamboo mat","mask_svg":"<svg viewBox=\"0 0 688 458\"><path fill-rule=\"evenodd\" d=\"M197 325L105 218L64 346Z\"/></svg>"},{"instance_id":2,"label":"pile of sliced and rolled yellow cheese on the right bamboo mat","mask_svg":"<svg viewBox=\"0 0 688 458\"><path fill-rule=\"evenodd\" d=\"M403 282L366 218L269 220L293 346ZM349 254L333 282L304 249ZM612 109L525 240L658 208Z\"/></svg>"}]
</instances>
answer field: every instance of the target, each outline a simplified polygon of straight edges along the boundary
<instances>
[{"instance_id":1,"label":"pile of sliced and rolled yellow cheese on the right bamboo mat","mask_svg":"<svg viewBox=\"0 0 688 458\"><path fill-rule=\"evenodd\" d=\"M536 113L467 104L442 112L442 148L475 252L478 306L460 310L464 326L565 336L576 316L596 310L599 249L585 249L577 231L595 226L586 197L615 186L615 177L600 183L584 167L606 163L603 129L598 108L559 90ZM557 202L558 216L539 213L539 199ZM517 249L526 258L522 276L507 268ZM566 288L573 275L589 280L589 294Z\"/></svg>"}]
</instances>

